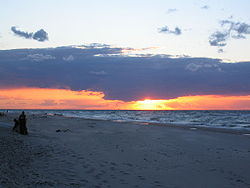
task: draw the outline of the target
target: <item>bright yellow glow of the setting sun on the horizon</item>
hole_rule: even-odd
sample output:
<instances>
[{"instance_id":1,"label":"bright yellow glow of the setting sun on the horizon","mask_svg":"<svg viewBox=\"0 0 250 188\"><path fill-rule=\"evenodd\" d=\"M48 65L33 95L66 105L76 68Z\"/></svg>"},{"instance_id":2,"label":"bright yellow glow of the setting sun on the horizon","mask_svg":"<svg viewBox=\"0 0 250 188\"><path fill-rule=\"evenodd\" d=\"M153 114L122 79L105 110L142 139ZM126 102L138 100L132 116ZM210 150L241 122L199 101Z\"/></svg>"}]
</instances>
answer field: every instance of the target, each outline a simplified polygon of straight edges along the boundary
<instances>
[{"instance_id":1,"label":"bright yellow glow of the setting sun on the horizon","mask_svg":"<svg viewBox=\"0 0 250 188\"><path fill-rule=\"evenodd\" d=\"M134 109L136 110L171 110L166 106L166 100L151 100L145 99L143 101L136 101Z\"/></svg>"}]
</instances>

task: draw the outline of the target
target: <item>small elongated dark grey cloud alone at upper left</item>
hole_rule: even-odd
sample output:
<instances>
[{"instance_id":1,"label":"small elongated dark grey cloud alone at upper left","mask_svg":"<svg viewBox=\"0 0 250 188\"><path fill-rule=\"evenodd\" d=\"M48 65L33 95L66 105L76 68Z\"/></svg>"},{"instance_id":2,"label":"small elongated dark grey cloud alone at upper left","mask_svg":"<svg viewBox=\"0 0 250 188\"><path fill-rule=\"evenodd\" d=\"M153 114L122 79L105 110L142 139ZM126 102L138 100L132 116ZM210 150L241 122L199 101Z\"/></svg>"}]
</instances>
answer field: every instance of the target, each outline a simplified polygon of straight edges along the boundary
<instances>
[{"instance_id":1,"label":"small elongated dark grey cloud alone at upper left","mask_svg":"<svg viewBox=\"0 0 250 188\"><path fill-rule=\"evenodd\" d=\"M43 29L36 31L35 33L29 33L29 32L25 32L25 31L20 31L15 26L13 26L13 27L11 27L11 31L15 35L17 35L19 37L26 38L26 39L34 39L34 40L37 40L39 42L44 42L46 40L49 40L48 33L46 31L44 31Z\"/></svg>"}]
</instances>

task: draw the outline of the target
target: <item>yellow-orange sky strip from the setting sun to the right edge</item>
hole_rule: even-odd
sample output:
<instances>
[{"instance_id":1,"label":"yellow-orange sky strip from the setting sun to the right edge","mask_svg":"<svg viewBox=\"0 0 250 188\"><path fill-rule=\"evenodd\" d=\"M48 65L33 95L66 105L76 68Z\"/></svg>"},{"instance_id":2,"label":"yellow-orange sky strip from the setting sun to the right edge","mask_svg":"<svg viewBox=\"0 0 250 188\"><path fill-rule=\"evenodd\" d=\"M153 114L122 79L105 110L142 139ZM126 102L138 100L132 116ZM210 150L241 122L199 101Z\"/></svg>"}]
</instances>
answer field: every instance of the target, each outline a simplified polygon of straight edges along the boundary
<instances>
[{"instance_id":1,"label":"yellow-orange sky strip from the setting sun to the right edge","mask_svg":"<svg viewBox=\"0 0 250 188\"><path fill-rule=\"evenodd\" d=\"M147 110L249 110L250 95L223 96L197 95L183 96L169 100L143 100L133 105L134 109Z\"/></svg>"}]
</instances>

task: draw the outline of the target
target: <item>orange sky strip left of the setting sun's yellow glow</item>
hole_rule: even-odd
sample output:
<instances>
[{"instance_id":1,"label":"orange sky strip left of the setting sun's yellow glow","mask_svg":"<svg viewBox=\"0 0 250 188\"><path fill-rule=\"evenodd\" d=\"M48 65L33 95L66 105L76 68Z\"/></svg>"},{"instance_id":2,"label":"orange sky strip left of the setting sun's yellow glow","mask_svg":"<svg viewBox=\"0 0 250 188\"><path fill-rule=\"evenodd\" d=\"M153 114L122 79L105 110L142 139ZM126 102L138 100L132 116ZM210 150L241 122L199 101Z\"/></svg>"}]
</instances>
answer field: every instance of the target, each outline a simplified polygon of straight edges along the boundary
<instances>
[{"instance_id":1,"label":"orange sky strip left of the setting sun's yellow glow","mask_svg":"<svg viewBox=\"0 0 250 188\"><path fill-rule=\"evenodd\" d=\"M117 109L125 102L105 100L102 92L18 88L0 90L2 109ZM126 104L127 105L127 104Z\"/></svg>"}]
</instances>

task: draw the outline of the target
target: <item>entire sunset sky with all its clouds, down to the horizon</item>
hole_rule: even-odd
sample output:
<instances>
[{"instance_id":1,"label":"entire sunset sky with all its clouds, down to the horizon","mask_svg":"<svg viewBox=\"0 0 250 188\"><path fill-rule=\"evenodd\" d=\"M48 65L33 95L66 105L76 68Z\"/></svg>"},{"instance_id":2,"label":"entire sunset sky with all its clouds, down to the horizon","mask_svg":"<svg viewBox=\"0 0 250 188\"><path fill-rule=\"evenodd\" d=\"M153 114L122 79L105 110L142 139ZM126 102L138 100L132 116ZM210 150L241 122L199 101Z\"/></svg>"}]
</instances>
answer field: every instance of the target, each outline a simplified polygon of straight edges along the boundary
<instances>
[{"instance_id":1,"label":"entire sunset sky with all its clouds, down to the horizon","mask_svg":"<svg viewBox=\"0 0 250 188\"><path fill-rule=\"evenodd\" d=\"M247 0L0 3L0 108L250 109Z\"/></svg>"}]
</instances>

